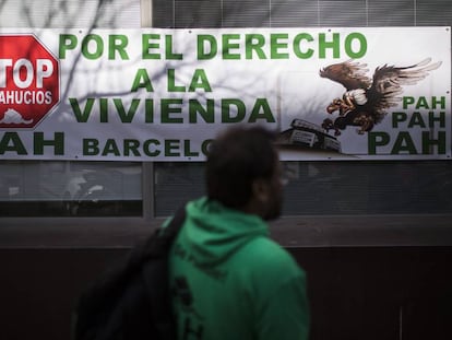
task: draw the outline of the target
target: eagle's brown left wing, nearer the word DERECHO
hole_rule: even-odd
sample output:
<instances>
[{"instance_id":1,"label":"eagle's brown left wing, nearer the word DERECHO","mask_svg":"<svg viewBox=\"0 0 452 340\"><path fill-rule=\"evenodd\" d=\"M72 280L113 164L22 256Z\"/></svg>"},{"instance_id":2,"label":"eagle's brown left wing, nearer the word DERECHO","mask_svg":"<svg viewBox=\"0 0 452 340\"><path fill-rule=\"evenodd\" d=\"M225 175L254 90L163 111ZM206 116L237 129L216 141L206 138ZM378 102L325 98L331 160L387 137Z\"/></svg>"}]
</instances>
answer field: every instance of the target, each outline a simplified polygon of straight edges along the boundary
<instances>
[{"instance_id":1,"label":"eagle's brown left wing, nearer the word DERECHO","mask_svg":"<svg viewBox=\"0 0 452 340\"><path fill-rule=\"evenodd\" d=\"M340 63L333 63L320 70L319 74L322 78L331 79L347 89L347 91L355 89L369 89L372 84L371 79L366 75L369 70L366 69L366 63L354 62L347 60Z\"/></svg>"}]
</instances>

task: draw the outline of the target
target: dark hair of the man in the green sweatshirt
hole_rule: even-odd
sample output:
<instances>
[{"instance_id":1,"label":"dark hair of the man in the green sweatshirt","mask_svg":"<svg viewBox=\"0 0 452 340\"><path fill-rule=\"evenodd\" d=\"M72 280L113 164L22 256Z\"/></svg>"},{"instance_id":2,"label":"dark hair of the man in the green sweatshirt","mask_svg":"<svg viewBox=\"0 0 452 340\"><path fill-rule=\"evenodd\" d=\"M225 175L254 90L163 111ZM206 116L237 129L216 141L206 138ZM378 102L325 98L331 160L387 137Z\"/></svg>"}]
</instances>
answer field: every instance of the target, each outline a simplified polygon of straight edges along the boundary
<instances>
[{"instance_id":1,"label":"dark hair of the man in the green sweatshirt","mask_svg":"<svg viewBox=\"0 0 452 340\"><path fill-rule=\"evenodd\" d=\"M276 134L260 126L236 126L215 139L206 162L207 196L224 206L241 209L252 196L257 178L272 178L278 154Z\"/></svg>"}]
</instances>

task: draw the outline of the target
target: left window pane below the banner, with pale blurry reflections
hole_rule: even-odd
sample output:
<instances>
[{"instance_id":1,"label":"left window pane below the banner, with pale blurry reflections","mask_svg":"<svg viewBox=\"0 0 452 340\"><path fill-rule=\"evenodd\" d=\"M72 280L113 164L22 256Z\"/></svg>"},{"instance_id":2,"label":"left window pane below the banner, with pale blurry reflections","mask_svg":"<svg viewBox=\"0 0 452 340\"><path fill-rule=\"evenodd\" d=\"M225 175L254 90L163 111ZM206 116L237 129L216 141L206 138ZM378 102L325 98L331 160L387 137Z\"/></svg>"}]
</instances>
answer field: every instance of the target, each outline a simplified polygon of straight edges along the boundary
<instances>
[{"instance_id":1,"label":"left window pane below the banner, with pale blurry reflections","mask_svg":"<svg viewBox=\"0 0 452 340\"><path fill-rule=\"evenodd\" d=\"M141 163L4 161L0 216L142 215Z\"/></svg>"}]
</instances>

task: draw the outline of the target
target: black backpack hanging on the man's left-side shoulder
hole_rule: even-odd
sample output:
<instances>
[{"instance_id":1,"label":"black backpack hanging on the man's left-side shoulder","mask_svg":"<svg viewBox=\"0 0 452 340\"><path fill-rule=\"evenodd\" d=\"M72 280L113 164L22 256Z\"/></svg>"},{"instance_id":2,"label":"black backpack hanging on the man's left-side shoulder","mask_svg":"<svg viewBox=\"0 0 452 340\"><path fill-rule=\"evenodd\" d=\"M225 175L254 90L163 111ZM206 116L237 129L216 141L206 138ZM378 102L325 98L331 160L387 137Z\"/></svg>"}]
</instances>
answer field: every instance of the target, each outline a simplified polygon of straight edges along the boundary
<instances>
[{"instance_id":1,"label":"black backpack hanging on the man's left-side shoulder","mask_svg":"<svg viewBox=\"0 0 452 340\"><path fill-rule=\"evenodd\" d=\"M128 258L80 296L73 340L176 339L168 282L168 253L186 218L180 208Z\"/></svg>"}]
</instances>

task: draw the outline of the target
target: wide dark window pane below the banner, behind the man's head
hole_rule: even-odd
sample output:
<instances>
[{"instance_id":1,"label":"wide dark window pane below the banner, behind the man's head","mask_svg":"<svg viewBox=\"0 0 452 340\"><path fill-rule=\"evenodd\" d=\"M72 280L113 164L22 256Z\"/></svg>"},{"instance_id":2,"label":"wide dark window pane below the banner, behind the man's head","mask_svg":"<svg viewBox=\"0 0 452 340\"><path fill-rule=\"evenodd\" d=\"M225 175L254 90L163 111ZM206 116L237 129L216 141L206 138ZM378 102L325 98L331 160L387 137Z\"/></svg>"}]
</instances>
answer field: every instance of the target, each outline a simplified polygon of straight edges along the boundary
<instances>
[{"instance_id":1,"label":"wide dark window pane below the banner, behind the man's head","mask_svg":"<svg viewBox=\"0 0 452 340\"><path fill-rule=\"evenodd\" d=\"M452 162L285 162L284 215L452 211ZM203 163L155 166L155 211L171 214L204 195Z\"/></svg>"}]
</instances>

